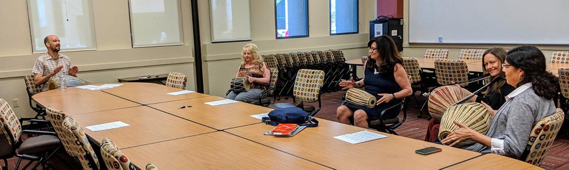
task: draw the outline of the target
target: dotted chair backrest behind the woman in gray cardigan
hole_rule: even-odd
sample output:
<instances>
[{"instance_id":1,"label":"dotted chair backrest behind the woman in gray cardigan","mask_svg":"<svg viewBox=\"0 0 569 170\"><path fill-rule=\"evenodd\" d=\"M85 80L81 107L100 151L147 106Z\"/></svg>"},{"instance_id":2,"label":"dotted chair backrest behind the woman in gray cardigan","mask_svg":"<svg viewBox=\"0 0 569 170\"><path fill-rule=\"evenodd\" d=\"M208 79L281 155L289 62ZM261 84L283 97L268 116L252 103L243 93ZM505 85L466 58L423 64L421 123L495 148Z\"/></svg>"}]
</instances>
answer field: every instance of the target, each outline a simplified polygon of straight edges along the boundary
<instances>
[{"instance_id":1,"label":"dotted chair backrest behind the woman in gray cardigan","mask_svg":"<svg viewBox=\"0 0 569 170\"><path fill-rule=\"evenodd\" d=\"M563 119L563 110L558 108L553 115L537 122L530 132L530 139L520 159L536 166L541 165L563 125Z\"/></svg>"}]
</instances>

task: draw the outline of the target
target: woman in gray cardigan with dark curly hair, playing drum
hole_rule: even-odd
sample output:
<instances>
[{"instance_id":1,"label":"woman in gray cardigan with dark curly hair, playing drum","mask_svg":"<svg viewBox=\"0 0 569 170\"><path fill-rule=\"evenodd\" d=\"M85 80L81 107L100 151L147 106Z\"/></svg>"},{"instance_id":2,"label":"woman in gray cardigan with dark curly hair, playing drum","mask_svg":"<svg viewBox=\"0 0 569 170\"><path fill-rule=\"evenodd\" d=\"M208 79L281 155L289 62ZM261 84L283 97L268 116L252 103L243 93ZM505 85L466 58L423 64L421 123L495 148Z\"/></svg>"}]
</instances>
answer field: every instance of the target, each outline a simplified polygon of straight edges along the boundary
<instances>
[{"instance_id":1,"label":"woman in gray cardigan with dark curly hair, playing drum","mask_svg":"<svg viewBox=\"0 0 569 170\"><path fill-rule=\"evenodd\" d=\"M506 82L514 87L500 109L490 110L492 121L486 135L455 122L460 128L441 142L453 146L463 140L477 143L465 149L494 153L520 159L535 124L555 113L552 101L559 86L553 74L546 71L545 56L536 47L520 46L508 51L502 64Z\"/></svg>"}]
</instances>

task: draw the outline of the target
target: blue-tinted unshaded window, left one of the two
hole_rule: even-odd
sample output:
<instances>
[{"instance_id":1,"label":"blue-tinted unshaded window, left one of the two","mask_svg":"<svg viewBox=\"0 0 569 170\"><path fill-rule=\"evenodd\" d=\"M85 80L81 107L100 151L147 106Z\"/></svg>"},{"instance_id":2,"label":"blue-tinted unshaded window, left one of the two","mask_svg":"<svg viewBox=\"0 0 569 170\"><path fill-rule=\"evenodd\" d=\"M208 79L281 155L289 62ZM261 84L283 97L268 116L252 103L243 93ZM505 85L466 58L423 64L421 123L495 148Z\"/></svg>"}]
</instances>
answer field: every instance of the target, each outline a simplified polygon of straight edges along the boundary
<instances>
[{"instance_id":1,"label":"blue-tinted unshaded window, left one of the two","mask_svg":"<svg viewBox=\"0 0 569 170\"><path fill-rule=\"evenodd\" d=\"M275 0L277 39L308 36L308 1Z\"/></svg>"}]
</instances>

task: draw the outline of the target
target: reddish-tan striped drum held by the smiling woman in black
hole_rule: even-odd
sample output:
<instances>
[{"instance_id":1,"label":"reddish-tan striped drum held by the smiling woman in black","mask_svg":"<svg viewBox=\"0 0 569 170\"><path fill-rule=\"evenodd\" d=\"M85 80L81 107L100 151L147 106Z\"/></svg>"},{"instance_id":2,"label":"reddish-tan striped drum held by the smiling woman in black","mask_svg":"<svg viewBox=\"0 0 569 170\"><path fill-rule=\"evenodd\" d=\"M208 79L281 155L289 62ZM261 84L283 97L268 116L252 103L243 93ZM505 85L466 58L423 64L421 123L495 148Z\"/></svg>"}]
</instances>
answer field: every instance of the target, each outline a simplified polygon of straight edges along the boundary
<instances>
[{"instance_id":1,"label":"reddish-tan striped drum held by the smiling woman in black","mask_svg":"<svg viewBox=\"0 0 569 170\"><path fill-rule=\"evenodd\" d=\"M465 93L463 88L460 86L440 86L439 88L432 90L428 97L428 112L431 114L432 118L440 120L444 111L447 111L448 107L454 105L456 102L467 96L468 93Z\"/></svg>"}]
</instances>

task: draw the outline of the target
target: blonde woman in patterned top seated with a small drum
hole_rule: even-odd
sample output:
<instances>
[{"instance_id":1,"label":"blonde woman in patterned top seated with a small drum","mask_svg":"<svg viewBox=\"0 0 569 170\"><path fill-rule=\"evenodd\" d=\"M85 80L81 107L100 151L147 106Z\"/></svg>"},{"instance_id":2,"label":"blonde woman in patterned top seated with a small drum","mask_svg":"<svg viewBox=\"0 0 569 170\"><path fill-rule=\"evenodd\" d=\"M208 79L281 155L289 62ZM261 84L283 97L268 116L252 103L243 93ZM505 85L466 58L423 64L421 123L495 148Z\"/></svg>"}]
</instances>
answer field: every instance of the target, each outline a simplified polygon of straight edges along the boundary
<instances>
[{"instance_id":1,"label":"blonde woman in patterned top seated with a small drum","mask_svg":"<svg viewBox=\"0 0 569 170\"><path fill-rule=\"evenodd\" d=\"M251 88L247 92L230 91L225 98L241 102L252 102L259 98L259 94L267 88L271 71L259 56L259 49L255 44L243 45L241 51L241 65L235 77L247 77Z\"/></svg>"}]
</instances>

